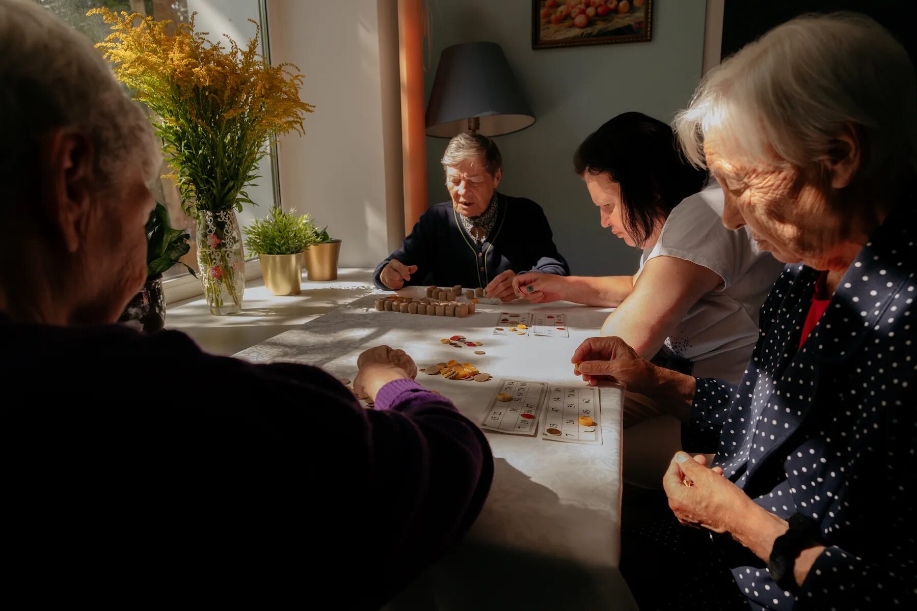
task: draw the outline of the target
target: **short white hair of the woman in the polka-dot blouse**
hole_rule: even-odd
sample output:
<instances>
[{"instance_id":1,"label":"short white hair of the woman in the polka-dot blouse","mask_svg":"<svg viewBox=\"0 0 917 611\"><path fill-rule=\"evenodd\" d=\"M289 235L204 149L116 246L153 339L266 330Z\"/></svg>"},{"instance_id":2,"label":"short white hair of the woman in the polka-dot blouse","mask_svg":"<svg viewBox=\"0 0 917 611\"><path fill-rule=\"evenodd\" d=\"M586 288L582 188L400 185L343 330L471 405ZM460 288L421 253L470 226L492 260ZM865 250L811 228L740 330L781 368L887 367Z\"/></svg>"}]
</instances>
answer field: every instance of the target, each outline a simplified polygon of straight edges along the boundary
<instances>
[{"instance_id":1,"label":"short white hair of the woman in the polka-dot blouse","mask_svg":"<svg viewBox=\"0 0 917 611\"><path fill-rule=\"evenodd\" d=\"M917 169L915 108L907 51L869 17L833 13L797 17L746 45L707 74L673 127L698 167L713 129L725 158L807 168L830 156L842 125L858 125L869 177Z\"/></svg>"}]
</instances>

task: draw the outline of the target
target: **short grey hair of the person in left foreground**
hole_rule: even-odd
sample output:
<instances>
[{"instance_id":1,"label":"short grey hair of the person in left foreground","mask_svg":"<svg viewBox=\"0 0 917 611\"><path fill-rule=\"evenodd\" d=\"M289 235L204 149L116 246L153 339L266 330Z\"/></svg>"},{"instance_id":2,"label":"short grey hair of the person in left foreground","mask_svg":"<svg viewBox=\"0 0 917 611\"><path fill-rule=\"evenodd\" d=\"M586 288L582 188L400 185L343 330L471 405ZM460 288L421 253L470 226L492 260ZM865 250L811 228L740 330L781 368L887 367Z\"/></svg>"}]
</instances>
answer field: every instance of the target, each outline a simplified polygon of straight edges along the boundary
<instances>
[{"instance_id":1,"label":"short grey hair of the person in left foreground","mask_svg":"<svg viewBox=\"0 0 917 611\"><path fill-rule=\"evenodd\" d=\"M17 176L28 162L23 151L51 129L71 127L91 139L102 188L119 184L128 167L156 176L160 143L145 110L102 52L49 10L0 0L0 85L0 172Z\"/></svg>"}]
</instances>

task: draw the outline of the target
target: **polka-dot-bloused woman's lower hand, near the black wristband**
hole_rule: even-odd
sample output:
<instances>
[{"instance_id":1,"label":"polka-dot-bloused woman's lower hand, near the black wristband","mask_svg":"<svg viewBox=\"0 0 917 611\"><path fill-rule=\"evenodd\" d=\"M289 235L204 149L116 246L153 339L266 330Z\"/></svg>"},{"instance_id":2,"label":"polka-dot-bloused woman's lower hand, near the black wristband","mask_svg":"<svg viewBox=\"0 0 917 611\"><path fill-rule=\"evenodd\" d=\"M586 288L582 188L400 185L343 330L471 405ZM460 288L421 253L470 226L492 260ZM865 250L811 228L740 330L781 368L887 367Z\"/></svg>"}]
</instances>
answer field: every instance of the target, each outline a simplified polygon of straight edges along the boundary
<instances>
[{"instance_id":1,"label":"polka-dot-bloused woman's lower hand, near the black wristband","mask_svg":"<svg viewBox=\"0 0 917 611\"><path fill-rule=\"evenodd\" d=\"M686 526L713 532L732 531L744 517L760 507L723 476L723 469L708 469L706 464L702 454L691 458L687 453L675 453L662 478L668 507Z\"/></svg>"}]
</instances>

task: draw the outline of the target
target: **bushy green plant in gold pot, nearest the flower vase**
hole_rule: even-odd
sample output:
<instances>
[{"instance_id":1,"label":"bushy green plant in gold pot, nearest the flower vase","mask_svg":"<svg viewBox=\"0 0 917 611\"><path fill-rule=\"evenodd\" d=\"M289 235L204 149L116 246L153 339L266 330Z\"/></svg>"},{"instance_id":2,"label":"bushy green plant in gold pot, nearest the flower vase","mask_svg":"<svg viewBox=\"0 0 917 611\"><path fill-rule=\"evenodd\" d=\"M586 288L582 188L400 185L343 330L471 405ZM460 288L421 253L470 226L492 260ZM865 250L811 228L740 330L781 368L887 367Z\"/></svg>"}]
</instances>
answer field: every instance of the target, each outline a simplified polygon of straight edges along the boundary
<instances>
[{"instance_id":1,"label":"bushy green plant in gold pot, nearest the flower vase","mask_svg":"<svg viewBox=\"0 0 917 611\"><path fill-rule=\"evenodd\" d=\"M264 286L274 295L299 294L303 251L315 240L309 215L295 212L272 208L265 218L245 228L245 247L259 256Z\"/></svg>"}]
</instances>

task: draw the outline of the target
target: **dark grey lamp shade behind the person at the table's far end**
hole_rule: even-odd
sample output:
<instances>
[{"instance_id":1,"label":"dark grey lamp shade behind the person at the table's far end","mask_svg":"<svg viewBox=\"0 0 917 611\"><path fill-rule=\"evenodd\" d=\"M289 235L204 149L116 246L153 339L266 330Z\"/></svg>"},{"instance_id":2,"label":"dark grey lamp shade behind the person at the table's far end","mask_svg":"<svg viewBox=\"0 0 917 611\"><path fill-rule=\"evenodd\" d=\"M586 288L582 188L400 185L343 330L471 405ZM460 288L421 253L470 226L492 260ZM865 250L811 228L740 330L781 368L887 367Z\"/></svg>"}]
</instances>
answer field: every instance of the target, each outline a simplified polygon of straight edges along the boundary
<instances>
[{"instance_id":1,"label":"dark grey lamp shade behind the person at the table's far end","mask_svg":"<svg viewBox=\"0 0 917 611\"><path fill-rule=\"evenodd\" d=\"M503 49L495 42L466 42L443 49L426 104L426 135L452 137L469 129L500 136L535 123Z\"/></svg>"}]
</instances>

